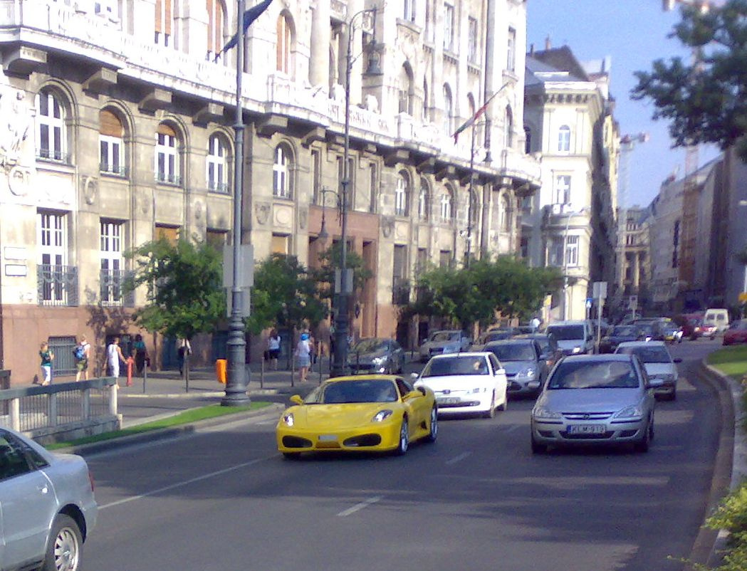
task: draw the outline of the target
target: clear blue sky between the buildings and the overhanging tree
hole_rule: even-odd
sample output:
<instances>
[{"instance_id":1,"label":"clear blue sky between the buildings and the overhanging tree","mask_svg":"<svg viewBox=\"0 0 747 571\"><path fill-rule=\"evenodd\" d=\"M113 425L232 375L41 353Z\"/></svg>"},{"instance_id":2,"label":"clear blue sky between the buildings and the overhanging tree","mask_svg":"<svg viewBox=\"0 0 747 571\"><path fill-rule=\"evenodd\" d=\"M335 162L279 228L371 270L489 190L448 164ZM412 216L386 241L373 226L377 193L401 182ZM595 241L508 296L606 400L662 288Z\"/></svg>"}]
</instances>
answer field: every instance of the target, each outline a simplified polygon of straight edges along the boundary
<instances>
[{"instance_id":1,"label":"clear blue sky between the buildings and the overhanging tree","mask_svg":"<svg viewBox=\"0 0 747 571\"><path fill-rule=\"evenodd\" d=\"M666 121L651 119L651 102L631 100L630 89L636 85L633 72L650 70L653 60L689 58L678 40L667 37L680 20L679 10L664 12L661 0L527 0L527 12L527 52L530 44L545 49L549 35L552 47L566 45L580 61L612 57L610 93L616 99L620 133L645 131L650 137L630 154L625 205L648 205L675 169L678 177L684 175L685 153L672 149ZM701 148L699 163L717 153L712 147Z\"/></svg>"}]
</instances>

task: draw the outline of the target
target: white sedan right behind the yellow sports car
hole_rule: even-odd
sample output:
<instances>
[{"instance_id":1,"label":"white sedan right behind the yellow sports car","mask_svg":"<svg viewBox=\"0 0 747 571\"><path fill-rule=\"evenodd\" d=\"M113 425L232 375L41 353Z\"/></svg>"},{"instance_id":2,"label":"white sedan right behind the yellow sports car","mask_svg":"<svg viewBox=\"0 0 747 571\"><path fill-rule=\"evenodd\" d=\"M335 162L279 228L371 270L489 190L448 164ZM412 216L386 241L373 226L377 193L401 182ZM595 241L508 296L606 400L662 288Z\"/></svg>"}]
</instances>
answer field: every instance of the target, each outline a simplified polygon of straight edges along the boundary
<instances>
[{"instance_id":1,"label":"white sedan right behind the yellow sports car","mask_svg":"<svg viewBox=\"0 0 747 571\"><path fill-rule=\"evenodd\" d=\"M488 352L436 355L415 381L436 394L438 414L480 414L506 410L506 371Z\"/></svg>"}]
</instances>

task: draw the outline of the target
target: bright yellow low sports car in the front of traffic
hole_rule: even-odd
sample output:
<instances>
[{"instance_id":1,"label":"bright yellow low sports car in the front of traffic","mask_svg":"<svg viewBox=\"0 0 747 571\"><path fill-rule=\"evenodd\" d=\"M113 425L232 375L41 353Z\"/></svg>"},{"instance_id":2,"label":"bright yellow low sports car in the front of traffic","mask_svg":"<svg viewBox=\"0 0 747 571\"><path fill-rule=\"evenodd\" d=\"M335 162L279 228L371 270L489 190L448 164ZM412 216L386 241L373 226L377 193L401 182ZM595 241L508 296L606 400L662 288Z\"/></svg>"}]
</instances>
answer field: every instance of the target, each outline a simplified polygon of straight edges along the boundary
<instances>
[{"instance_id":1,"label":"bright yellow low sports car in the front of traffic","mask_svg":"<svg viewBox=\"0 0 747 571\"><path fill-rule=\"evenodd\" d=\"M285 458L319 450L407 452L409 443L438 435L433 390L395 375L330 378L280 417L278 450Z\"/></svg>"}]
</instances>

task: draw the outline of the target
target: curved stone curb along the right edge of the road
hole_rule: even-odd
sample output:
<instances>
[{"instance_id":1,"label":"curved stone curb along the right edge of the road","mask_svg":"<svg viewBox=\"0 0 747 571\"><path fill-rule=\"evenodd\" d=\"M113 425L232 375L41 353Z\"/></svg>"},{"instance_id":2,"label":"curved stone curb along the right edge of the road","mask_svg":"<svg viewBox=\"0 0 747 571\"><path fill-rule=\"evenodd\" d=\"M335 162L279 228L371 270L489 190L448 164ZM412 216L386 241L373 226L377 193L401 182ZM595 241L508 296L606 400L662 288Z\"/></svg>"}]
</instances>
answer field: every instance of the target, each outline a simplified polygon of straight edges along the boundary
<instances>
[{"instance_id":1,"label":"curved stone curb along the right edge of the road","mask_svg":"<svg viewBox=\"0 0 747 571\"><path fill-rule=\"evenodd\" d=\"M706 517L716 509L722 498L734 490L747 475L747 435L740 430L744 411L742 410L740 385L728 375L713 368L705 362L699 363L695 369L701 380L710 384L719 397L722 427L719 434L719 444L714 460L713 476L706 505ZM709 569L722 564L723 553L726 549L728 532L706 528L701 525L695 541L692 543L686 570L695 569L694 564L705 565Z\"/></svg>"}]
</instances>

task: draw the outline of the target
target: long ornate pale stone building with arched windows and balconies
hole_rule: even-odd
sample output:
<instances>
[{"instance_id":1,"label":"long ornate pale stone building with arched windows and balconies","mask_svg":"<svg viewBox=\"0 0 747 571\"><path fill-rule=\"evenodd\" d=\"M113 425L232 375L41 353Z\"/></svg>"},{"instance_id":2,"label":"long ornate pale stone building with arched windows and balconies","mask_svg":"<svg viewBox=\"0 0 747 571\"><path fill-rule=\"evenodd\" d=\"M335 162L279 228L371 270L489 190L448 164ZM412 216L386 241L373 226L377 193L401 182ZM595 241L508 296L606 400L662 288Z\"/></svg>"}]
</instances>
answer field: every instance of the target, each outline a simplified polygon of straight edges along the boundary
<instances>
[{"instance_id":1,"label":"long ornate pale stone building with arched windows and balconies","mask_svg":"<svg viewBox=\"0 0 747 571\"><path fill-rule=\"evenodd\" d=\"M108 337L136 332L143 293L120 287L129 249L229 240L235 50L217 54L236 13L223 0L0 3L0 358L26 383L42 340L65 375L82 334L100 361ZM468 241L518 249L518 201L540 179L520 127L525 31L521 0L270 4L247 34L241 93L242 234L255 258L314 266L325 206L339 239L329 207L350 69L349 240L373 272L353 331L414 339L397 307L419 267L461 259ZM455 143L496 92L475 137ZM194 344L204 361L220 355L212 337ZM168 365L173 347L148 340Z\"/></svg>"}]
</instances>

